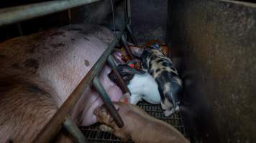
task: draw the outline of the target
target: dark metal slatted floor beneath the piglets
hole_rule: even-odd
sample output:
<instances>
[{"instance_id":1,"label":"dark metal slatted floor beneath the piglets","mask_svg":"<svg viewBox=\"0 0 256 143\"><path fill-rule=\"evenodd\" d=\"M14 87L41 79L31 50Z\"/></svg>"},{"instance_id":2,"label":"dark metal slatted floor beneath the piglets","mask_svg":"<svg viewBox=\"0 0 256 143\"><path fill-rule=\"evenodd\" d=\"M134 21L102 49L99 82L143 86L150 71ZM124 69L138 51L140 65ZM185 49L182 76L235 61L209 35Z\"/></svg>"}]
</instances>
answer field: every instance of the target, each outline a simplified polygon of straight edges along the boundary
<instances>
[{"instance_id":1,"label":"dark metal slatted floor beneath the piglets","mask_svg":"<svg viewBox=\"0 0 256 143\"><path fill-rule=\"evenodd\" d=\"M178 129L186 137L186 130L183 126L183 122L179 113L173 114L170 117L165 117L163 115L163 110L161 109L160 104L148 104L147 102L140 102L138 106L144 109L151 116L173 125L173 127ZM121 142L119 138L114 136L114 134L110 134L109 132L101 132L97 128L98 126L99 123L93 124L89 127L81 127L81 131L89 142ZM132 141L129 140L127 143L132 143Z\"/></svg>"}]
</instances>

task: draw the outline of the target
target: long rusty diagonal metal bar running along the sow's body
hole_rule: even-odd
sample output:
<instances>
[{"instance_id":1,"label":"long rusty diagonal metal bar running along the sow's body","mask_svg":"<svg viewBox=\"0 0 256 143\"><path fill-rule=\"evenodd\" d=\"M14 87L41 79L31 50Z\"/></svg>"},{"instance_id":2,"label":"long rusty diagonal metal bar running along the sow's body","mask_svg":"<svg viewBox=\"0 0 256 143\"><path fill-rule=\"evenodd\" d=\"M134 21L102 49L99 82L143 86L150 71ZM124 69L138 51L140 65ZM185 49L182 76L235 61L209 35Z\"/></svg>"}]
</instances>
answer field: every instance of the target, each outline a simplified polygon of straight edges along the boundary
<instances>
[{"instance_id":1,"label":"long rusty diagonal metal bar running along the sow's body","mask_svg":"<svg viewBox=\"0 0 256 143\"><path fill-rule=\"evenodd\" d=\"M64 122L65 117L67 117L68 114L71 112L76 102L78 102L78 99L80 99L80 97L86 91L86 88L91 85L93 78L97 74L99 74L99 71L105 64L106 59L109 57L109 54L111 54L111 51L114 49L114 46L116 46L116 43L121 38L124 29L126 29L126 26L127 24L125 24L124 27L122 27L120 33L116 36L116 39L114 39L111 42L108 48L104 51L104 54L102 54L98 61L96 61L96 64L94 64L91 70L88 71L86 77L82 79L82 81L78 84L76 89L70 94L68 99L66 99L63 105L60 107L60 109L58 109L58 112L55 113L52 119L50 119L50 121L45 125L45 127L42 129L40 134L37 135L33 142L50 142L52 137L55 137L55 135L60 130L61 124Z\"/></svg>"}]
</instances>

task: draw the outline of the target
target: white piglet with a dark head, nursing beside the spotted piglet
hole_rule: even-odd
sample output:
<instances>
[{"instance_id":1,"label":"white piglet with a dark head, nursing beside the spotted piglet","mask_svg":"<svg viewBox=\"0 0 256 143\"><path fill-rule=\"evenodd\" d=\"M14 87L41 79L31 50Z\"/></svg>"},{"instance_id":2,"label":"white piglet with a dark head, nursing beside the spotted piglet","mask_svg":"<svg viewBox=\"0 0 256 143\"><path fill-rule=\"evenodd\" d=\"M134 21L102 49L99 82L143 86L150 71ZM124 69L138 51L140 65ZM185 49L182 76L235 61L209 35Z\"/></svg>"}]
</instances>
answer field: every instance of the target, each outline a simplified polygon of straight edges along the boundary
<instances>
[{"instance_id":1,"label":"white piglet with a dark head, nursing beside the spotted piglet","mask_svg":"<svg viewBox=\"0 0 256 143\"><path fill-rule=\"evenodd\" d=\"M155 79L147 72L134 69L131 66L122 64L116 66L124 81L127 82L127 87L131 92L131 104L137 104L142 99L151 104L160 104L161 98L158 92ZM113 72L109 74L109 79L118 84L117 78Z\"/></svg>"}]
</instances>

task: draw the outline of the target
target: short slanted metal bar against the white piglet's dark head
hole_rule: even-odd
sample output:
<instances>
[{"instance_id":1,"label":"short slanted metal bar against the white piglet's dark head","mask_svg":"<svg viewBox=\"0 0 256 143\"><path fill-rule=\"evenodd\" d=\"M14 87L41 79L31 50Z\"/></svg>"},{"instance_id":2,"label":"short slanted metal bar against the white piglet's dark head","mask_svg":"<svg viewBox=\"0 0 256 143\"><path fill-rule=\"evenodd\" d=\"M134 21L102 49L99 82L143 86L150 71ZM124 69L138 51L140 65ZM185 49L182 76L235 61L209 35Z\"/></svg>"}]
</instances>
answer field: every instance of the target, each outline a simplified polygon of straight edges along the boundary
<instances>
[{"instance_id":1,"label":"short slanted metal bar against the white piglet's dark head","mask_svg":"<svg viewBox=\"0 0 256 143\"><path fill-rule=\"evenodd\" d=\"M113 56L109 55L109 58L107 60L108 60L109 66L111 67L112 71L114 72L115 76L117 77L117 82L119 82L119 85L121 86L122 91L124 93L129 92L127 85L124 83L124 79L121 77L121 75L119 74L119 72L116 69L116 64L114 62Z\"/></svg>"}]
</instances>

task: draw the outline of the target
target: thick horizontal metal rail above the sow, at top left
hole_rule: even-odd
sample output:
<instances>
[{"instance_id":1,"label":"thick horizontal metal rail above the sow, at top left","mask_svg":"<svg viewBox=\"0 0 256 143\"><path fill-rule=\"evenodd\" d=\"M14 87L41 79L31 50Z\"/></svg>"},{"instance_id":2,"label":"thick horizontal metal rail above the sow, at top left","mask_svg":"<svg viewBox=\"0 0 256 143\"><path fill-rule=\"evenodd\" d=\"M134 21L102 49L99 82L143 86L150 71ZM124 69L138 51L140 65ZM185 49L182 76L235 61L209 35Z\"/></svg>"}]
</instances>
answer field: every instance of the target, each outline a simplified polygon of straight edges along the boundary
<instances>
[{"instance_id":1,"label":"thick horizontal metal rail above the sow, at top left","mask_svg":"<svg viewBox=\"0 0 256 143\"><path fill-rule=\"evenodd\" d=\"M14 6L0 10L0 26L13 24L18 21L24 21L58 11L63 11L83 4L91 4L100 0L61 0L47 1L37 4L28 4L24 6Z\"/></svg>"}]
</instances>

